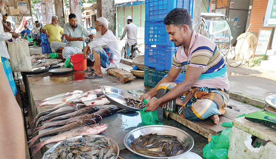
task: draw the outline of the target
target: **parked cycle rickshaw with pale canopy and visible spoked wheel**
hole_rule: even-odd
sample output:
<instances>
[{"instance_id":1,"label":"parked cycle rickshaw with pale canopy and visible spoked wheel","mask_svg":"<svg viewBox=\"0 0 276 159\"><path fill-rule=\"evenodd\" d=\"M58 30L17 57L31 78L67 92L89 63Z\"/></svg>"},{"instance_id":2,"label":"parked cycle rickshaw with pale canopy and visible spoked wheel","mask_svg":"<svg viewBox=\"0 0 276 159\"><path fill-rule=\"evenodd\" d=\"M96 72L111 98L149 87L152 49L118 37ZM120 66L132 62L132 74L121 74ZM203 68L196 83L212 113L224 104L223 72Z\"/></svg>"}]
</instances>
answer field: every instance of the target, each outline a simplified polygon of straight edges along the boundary
<instances>
[{"instance_id":1,"label":"parked cycle rickshaw with pale canopy and visible spoked wheel","mask_svg":"<svg viewBox=\"0 0 276 159\"><path fill-rule=\"evenodd\" d=\"M221 13L201 13L199 32L215 42L228 65L238 67L243 62L243 53L232 46L231 30Z\"/></svg>"}]
</instances>

